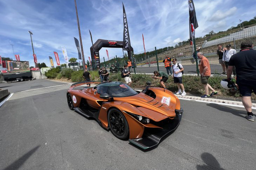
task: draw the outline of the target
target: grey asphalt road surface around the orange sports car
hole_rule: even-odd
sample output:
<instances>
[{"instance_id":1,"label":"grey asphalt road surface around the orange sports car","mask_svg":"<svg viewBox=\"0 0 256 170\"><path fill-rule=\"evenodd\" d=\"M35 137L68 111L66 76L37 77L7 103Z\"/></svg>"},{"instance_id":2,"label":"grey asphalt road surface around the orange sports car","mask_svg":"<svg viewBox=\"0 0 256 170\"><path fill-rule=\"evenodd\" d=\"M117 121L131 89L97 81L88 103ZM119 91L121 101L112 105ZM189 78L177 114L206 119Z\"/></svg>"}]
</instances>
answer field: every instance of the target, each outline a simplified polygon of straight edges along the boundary
<instances>
[{"instance_id":1,"label":"grey asphalt road surface around the orange sports car","mask_svg":"<svg viewBox=\"0 0 256 170\"><path fill-rule=\"evenodd\" d=\"M27 83L19 91L59 85L48 80ZM144 151L69 110L69 86L14 93L0 107L1 170L256 167L256 125L244 118L243 108L181 100L180 126Z\"/></svg>"}]
</instances>

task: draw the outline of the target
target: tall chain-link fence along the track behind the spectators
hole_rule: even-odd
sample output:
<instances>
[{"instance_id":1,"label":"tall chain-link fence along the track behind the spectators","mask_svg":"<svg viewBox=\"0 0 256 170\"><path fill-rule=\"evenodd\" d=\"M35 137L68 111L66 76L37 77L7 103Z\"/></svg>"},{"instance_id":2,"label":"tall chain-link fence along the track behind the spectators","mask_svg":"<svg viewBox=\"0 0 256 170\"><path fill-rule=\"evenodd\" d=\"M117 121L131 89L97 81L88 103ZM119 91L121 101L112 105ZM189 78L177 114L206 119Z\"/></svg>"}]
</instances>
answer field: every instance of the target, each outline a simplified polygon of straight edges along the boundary
<instances>
[{"instance_id":1,"label":"tall chain-link fence along the track behind the spectators","mask_svg":"<svg viewBox=\"0 0 256 170\"><path fill-rule=\"evenodd\" d=\"M219 60L217 45L220 44L222 47L225 47L230 44L231 49L235 49L239 52L240 45L244 40L251 40L256 44L256 25L244 29L228 30L225 31L224 34L223 32L218 32L208 37L196 38L196 47L197 49L200 48L198 51L203 52L204 56L208 58L211 74L221 74L226 71L225 67L222 66L221 60ZM153 73L154 71L167 72L163 59L176 58L177 62L182 64L184 74L197 74L195 56L193 46L190 45L189 40L160 49L148 49L146 53L144 51L137 52L134 53L136 62L135 73ZM101 61L103 61L103 58ZM124 56L109 57L109 61L106 61L105 58L105 62L101 62L101 64L110 68L109 66L116 65L115 61L117 61L119 67L123 67L123 64L127 64L128 61L127 54L125 53Z\"/></svg>"}]
</instances>

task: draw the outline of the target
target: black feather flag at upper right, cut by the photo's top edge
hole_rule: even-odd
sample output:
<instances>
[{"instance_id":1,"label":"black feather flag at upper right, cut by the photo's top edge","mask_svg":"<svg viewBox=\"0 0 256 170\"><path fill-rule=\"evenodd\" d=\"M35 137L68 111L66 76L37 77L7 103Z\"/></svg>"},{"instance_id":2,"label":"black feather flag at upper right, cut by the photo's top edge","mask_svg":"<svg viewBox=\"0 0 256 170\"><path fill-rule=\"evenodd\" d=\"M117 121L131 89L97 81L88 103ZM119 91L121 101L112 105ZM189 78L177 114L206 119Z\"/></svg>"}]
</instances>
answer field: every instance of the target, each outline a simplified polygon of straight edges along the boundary
<instances>
[{"instance_id":1,"label":"black feather flag at upper right, cut by the photo's top edge","mask_svg":"<svg viewBox=\"0 0 256 170\"><path fill-rule=\"evenodd\" d=\"M190 32L190 44L191 44L191 38L195 37L195 29L198 27L197 20L196 20L196 11L195 11L193 0L188 0L188 7L189 7L189 32Z\"/></svg>"}]
</instances>

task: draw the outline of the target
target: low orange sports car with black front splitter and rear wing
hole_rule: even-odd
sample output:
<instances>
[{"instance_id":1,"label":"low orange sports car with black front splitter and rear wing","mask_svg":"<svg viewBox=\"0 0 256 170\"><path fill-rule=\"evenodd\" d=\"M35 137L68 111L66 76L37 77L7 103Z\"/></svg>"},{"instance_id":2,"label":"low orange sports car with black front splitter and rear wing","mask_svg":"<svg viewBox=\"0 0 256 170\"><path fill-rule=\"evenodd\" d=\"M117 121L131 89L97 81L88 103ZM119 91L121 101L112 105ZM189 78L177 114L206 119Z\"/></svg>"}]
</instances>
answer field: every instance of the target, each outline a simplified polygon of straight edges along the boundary
<instances>
[{"instance_id":1,"label":"low orange sports car with black front splitter and rear wing","mask_svg":"<svg viewBox=\"0 0 256 170\"><path fill-rule=\"evenodd\" d=\"M78 87L90 83L98 84ZM171 91L150 84L140 92L122 82L74 83L67 91L68 107L95 118L117 138L148 149L177 128L183 113L180 100Z\"/></svg>"}]
</instances>

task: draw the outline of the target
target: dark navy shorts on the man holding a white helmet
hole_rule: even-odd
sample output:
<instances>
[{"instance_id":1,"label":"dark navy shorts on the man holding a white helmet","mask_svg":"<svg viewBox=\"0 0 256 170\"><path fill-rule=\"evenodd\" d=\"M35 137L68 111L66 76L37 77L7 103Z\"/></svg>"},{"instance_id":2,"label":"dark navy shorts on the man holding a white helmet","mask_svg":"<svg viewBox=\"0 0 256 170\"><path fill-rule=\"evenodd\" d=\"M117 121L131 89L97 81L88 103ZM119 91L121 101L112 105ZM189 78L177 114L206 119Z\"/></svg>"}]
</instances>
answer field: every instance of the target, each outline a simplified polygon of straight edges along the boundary
<instances>
[{"instance_id":1,"label":"dark navy shorts on the man holding a white helmet","mask_svg":"<svg viewBox=\"0 0 256 170\"><path fill-rule=\"evenodd\" d=\"M236 83L242 96L251 96L252 90L256 94L256 82L237 80Z\"/></svg>"}]
</instances>

